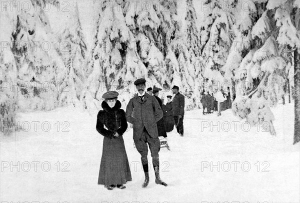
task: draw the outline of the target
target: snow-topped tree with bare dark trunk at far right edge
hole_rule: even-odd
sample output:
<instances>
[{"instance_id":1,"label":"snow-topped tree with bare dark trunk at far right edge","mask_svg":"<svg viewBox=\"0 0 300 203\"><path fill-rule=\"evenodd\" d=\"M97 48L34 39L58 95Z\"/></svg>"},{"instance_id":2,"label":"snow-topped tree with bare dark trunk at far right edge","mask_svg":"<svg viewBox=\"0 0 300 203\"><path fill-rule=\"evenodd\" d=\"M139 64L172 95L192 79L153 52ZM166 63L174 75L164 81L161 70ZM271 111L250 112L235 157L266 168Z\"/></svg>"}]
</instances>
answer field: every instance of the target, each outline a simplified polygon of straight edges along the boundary
<instances>
[{"instance_id":1,"label":"snow-topped tree with bare dark trunk at far right edge","mask_svg":"<svg viewBox=\"0 0 300 203\"><path fill-rule=\"evenodd\" d=\"M276 42L281 57L288 60L293 55L294 67L294 144L300 141L300 6L295 0L271 1L268 9L275 10L274 19L279 28ZM285 55L283 55L285 53ZM288 70L287 70L288 71Z\"/></svg>"}]
</instances>

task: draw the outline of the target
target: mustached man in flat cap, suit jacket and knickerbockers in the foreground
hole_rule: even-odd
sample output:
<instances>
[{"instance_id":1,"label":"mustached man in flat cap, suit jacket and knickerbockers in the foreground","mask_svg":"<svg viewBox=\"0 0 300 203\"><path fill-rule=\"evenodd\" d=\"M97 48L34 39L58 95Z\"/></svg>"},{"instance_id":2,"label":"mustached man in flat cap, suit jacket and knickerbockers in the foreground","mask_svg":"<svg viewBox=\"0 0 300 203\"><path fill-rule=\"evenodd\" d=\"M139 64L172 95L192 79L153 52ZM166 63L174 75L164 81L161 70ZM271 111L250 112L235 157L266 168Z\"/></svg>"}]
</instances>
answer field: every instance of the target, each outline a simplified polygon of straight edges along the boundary
<instances>
[{"instance_id":1,"label":"mustached man in flat cap, suit jacket and knickerbockers in the foreground","mask_svg":"<svg viewBox=\"0 0 300 203\"><path fill-rule=\"evenodd\" d=\"M167 186L159 177L160 141L158 138L157 124L163 114L157 100L144 92L146 80L137 79L134 85L138 91L137 95L131 98L126 108L126 119L133 124L133 140L137 151L141 155L142 168L145 180L142 187L149 183L148 172L148 146L150 148L152 164L155 172L155 183Z\"/></svg>"}]
</instances>

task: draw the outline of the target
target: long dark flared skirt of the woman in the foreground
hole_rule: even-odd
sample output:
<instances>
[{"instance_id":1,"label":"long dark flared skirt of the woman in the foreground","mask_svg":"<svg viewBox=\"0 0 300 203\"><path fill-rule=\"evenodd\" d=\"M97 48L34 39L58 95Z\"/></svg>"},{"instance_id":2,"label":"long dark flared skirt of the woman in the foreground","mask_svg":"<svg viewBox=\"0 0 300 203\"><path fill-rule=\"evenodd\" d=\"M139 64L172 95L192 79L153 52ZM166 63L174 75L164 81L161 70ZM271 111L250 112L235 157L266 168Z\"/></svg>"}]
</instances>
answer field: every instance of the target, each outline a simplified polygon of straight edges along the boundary
<instances>
[{"instance_id":1,"label":"long dark flared skirt of the woman in the foreground","mask_svg":"<svg viewBox=\"0 0 300 203\"><path fill-rule=\"evenodd\" d=\"M131 180L123 136L112 139L104 137L98 184L125 184Z\"/></svg>"}]
</instances>

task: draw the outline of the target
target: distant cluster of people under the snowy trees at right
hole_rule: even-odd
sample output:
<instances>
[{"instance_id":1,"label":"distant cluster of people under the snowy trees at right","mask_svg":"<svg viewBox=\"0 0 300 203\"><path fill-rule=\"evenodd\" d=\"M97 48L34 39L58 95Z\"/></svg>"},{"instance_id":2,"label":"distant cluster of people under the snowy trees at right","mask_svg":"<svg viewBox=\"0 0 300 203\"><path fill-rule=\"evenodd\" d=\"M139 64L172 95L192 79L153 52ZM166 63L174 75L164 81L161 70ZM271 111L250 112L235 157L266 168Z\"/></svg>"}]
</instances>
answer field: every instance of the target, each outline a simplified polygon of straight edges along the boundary
<instances>
[{"instance_id":1,"label":"distant cluster of people under the snowy trees at right","mask_svg":"<svg viewBox=\"0 0 300 203\"><path fill-rule=\"evenodd\" d=\"M229 87L227 88L228 91L225 93L223 90L221 90L221 93L223 94L223 97L226 98L225 101L221 102L219 107L217 105L216 98L213 96L213 93L210 93L204 90L201 92L201 104L203 107L203 114L209 114L214 111L217 111L218 108L220 108L220 111L231 109L231 98L230 98L230 91ZM206 112L205 112L206 109Z\"/></svg>"}]
</instances>

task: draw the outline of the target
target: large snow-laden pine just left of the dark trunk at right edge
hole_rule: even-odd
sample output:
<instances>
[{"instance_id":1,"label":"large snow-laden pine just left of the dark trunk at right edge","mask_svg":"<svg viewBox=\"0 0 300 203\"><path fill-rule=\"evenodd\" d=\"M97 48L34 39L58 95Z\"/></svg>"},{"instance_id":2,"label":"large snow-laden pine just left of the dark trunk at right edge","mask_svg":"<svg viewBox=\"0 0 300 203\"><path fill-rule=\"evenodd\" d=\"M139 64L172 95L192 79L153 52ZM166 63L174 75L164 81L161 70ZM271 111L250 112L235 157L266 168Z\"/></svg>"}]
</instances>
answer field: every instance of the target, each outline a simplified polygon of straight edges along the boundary
<instances>
[{"instance_id":1,"label":"large snow-laden pine just left of the dark trunk at right edge","mask_svg":"<svg viewBox=\"0 0 300 203\"><path fill-rule=\"evenodd\" d=\"M282 4L278 1L275 4L278 3ZM251 124L265 123L270 133L275 135L272 124L274 117L269 106L276 105L284 97L284 78L289 67L282 54L284 46L281 45L283 42L293 42L294 47L298 37L295 37L295 29L289 27L289 31L292 31L290 34L294 36L286 36L286 39L282 40L282 34L286 33L286 25L290 22L286 11L272 5L263 8L265 11L251 30L252 42L255 43L250 43L250 51L235 71L234 77L240 86L232 109L241 118L247 118Z\"/></svg>"}]
</instances>

